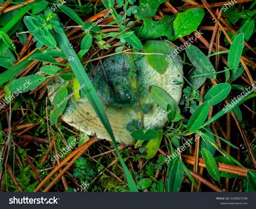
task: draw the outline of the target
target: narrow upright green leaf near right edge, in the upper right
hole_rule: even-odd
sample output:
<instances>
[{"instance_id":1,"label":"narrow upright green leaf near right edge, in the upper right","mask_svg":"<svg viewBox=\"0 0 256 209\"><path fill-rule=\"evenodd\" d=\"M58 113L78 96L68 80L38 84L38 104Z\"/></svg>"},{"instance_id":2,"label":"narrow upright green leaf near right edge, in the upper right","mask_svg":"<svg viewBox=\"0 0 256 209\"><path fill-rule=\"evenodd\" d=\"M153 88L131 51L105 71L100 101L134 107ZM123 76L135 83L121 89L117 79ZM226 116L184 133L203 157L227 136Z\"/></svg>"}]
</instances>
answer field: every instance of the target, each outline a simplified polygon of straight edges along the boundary
<instances>
[{"instance_id":1,"label":"narrow upright green leaf near right edge, in the upper right","mask_svg":"<svg viewBox=\"0 0 256 209\"><path fill-rule=\"evenodd\" d=\"M240 33L234 38L234 41L230 46L230 52L228 53L227 56L228 67L231 69L232 73L235 73L238 69L243 48L244 33Z\"/></svg>"}]
</instances>

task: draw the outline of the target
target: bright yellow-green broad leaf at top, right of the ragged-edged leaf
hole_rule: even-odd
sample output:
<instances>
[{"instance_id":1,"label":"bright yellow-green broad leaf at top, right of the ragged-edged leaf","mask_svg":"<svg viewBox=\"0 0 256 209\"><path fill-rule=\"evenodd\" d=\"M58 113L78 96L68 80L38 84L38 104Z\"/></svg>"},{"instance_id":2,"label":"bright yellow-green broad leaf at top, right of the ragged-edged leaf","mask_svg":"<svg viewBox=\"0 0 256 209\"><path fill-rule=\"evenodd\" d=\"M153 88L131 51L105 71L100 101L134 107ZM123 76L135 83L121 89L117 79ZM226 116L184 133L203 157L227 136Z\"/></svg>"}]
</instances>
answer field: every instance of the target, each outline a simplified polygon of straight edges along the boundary
<instances>
[{"instance_id":1,"label":"bright yellow-green broad leaf at top, right of the ragged-edged leaf","mask_svg":"<svg viewBox=\"0 0 256 209\"><path fill-rule=\"evenodd\" d=\"M188 9L179 13L173 22L174 36L172 40L174 41L196 31L204 15L204 10L200 8Z\"/></svg>"}]
</instances>

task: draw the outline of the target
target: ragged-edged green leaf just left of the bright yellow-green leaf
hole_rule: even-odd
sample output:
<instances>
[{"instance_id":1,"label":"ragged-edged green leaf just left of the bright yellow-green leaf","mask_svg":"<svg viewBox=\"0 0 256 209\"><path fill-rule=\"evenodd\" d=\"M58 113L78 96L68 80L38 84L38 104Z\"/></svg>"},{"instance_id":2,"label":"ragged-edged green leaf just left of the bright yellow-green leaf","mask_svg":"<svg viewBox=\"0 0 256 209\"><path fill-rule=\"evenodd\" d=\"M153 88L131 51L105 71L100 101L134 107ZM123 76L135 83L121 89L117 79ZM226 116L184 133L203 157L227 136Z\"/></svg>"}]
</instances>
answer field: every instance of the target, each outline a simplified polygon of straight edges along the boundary
<instances>
[{"instance_id":1,"label":"ragged-edged green leaf just left of the bright yellow-green leaf","mask_svg":"<svg viewBox=\"0 0 256 209\"><path fill-rule=\"evenodd\" d=\"M163 19L160 21L152 21L151 19L144 19L144 27L139 38L160 38L166 36L172 37L173 17L163 15Z\"/></svg>"}]
</instances>

